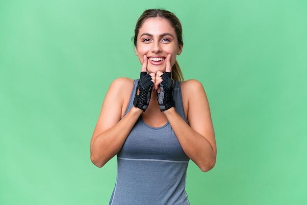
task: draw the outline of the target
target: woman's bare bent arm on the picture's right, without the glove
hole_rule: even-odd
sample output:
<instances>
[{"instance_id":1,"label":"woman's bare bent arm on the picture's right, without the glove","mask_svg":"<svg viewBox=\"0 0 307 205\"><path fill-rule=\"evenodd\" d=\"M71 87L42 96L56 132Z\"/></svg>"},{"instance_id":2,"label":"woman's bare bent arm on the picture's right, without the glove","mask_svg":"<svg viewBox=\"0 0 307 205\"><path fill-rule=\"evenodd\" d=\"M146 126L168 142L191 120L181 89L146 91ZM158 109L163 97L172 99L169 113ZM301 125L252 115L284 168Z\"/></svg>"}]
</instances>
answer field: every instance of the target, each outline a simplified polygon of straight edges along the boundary
<instances>
[{"instance_id":1,"label":"woman's bare bent arm on the picture's right, without the glove","mask_svg":"<svg viewBox=\"0 0 307 205\"><path fill-rule=\"evenodd\" d=\"M174 107L165 110L179 143L188 157L203 171L215 165L216 143L210 108L202 84L188 80L181 85L182 99L187 106L188 124L179 116Z\"/></svg>"}]
</instances>

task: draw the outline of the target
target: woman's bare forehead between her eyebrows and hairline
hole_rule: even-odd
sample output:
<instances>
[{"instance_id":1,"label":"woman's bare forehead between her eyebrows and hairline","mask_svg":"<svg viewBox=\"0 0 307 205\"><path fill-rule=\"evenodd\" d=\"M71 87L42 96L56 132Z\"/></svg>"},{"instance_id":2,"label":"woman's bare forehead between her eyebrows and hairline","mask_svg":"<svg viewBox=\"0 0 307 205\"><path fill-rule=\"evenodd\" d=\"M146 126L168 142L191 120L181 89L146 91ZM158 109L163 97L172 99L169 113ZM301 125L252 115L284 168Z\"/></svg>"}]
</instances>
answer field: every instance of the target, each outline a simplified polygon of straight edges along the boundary
<instances>
[{"instance_id":1,"label":"woman's bare forehead between her eyebrows and hairline","mask_svg":"<svg viewBox=\"0 0 307 205\"><path fill-rule=\"evenodd\" d=\"M176 34L175 28L170 24L170 22L159 17L146 19L139 30L139 34L142 35L142 33L150 33L153 35L160 33Z\"/></svg>"}]
</instances>

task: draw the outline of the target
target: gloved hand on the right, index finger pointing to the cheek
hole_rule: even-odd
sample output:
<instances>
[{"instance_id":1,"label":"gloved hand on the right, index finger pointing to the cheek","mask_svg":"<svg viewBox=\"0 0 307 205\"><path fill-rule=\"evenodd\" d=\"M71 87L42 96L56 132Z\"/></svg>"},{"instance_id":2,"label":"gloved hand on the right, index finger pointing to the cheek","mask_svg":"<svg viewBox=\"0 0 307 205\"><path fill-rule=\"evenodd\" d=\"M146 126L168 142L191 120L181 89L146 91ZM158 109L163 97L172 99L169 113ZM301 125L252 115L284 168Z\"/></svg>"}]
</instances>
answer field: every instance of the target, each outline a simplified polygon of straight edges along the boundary
<instances>
[{"instance_id":1,"label":"gloved hand on the right, index finger pointing to the cheek","mask_svg":"<svg viewBox=\"0 0 307 205\"><path fill-rule=\"evenodd\" d=\"M157 99L161 112L175 105L173 101L173 80L171 78L171 72L171 54L168 54L165 73L157 72L155 80L155 90L157 90Z\"/></svg>"}]
</instances>

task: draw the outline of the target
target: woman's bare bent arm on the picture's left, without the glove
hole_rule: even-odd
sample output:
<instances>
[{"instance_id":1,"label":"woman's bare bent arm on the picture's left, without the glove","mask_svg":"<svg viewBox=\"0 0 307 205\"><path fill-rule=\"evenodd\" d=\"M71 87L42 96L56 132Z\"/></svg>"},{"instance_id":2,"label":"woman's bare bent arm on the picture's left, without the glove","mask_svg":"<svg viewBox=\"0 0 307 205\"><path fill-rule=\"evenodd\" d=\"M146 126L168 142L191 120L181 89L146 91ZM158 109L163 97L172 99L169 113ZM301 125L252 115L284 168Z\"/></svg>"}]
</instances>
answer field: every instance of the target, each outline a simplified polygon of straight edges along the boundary
<instances>
[{"instance_id":1,"label":"woman's bare bent arm on the picture's left, without the glove","mask_svg":"<svg viewBox=\"0 0 307 205\"><path fill-rule=\"evenodd\" d=\"M122 118L129 95L133 87L133 80L118 78L114 80L104 98L101 114L95 127L91 144L91 160L97 167L102 167L117 154L135 122L142 114L142 110L132 107ZM128 93L128 96L127 96Z\"/></svg>"}]
</instances>

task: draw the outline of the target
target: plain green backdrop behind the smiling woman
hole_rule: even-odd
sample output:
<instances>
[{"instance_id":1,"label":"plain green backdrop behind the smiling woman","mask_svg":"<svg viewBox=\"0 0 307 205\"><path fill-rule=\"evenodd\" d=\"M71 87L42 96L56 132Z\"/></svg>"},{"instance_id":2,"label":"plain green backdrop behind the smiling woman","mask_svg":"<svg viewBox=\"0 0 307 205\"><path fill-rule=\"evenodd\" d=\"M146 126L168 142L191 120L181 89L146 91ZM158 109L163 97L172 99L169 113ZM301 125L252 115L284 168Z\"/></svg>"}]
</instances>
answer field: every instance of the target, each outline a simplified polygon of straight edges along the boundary
<instances>
[{"instance_id":1,"label":"plain green backdrop behind the smiling woman","mask_svg":"<svg viewBox=\"0 0 307 205\"><path fill-rule=\"evenodd\" d=\"M137 78L147 8L178 15L185 79L200 80L218 145L191 162L192 205L307 203L306 0L0 0L0 204L105 205L116 159L90 161L111 81Z\"/></svg>"}]
</instances>

